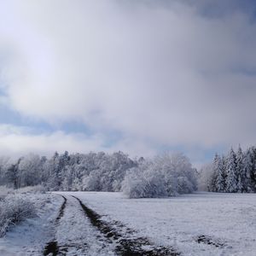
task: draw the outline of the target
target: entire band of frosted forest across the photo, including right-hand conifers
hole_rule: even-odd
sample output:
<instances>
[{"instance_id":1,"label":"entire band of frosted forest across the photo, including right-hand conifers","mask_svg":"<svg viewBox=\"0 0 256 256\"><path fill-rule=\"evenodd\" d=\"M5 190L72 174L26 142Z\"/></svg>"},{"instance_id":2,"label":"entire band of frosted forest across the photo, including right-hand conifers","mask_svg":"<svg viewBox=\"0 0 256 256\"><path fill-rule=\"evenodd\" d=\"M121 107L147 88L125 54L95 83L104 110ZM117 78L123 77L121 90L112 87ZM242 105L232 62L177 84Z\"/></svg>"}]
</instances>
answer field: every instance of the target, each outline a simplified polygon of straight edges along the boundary
<instances>
[{"instance_id":1,"label":"entire band of frosted forest across the photo, including right-hand conifers","mask_svg":"<svg viewBox=\"0 0 256 256\"><path fill-rule=\"evenodd\" d=\"M195 190L227 193L256 192L256 148L216 154L197 172L181 153L152 159L123 152L58 154L47 158L27 154L0 158L0 185L20 189L41 184L49 191L122 191L130 198L165 197Z\"/></svg>"}]
</instances>

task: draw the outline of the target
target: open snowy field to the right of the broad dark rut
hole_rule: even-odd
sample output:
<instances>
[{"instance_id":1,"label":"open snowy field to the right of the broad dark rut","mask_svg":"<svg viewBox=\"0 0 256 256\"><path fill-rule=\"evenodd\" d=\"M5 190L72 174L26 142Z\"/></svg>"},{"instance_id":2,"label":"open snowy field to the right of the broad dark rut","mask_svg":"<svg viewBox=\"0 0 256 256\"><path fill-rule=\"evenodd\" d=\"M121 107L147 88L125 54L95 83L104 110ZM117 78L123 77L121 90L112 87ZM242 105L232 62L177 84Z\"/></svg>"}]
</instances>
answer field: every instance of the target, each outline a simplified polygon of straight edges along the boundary
<instances>
[{"instance_id":1,"label":"open snowy field to the right of the broad dark rut","mask_svg":"<svg viewBox=\"0 0 256 256\"><path fill-rule=\"evenodd\" d=\"M121 193L75 195L113 223L119 221L157 245L183 255L255 255L256 195L195 193L163 199L127 199ZM207 242L199 243L201 237ZM218 247L217 247L217 246Z\"/></svg>"}]
</instances>

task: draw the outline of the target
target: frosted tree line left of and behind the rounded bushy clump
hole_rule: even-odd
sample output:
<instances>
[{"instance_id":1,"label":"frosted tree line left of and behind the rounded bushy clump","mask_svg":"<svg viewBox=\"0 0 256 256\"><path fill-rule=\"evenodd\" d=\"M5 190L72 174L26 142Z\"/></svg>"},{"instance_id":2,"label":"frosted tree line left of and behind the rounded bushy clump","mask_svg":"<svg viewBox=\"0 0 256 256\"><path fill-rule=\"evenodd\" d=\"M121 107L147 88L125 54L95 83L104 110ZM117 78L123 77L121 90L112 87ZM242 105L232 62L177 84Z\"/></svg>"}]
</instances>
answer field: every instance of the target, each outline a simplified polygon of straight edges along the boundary
<instances>
[{"instance_id":1,"label":"frosted tree line left of and behind the rounded bushy clump","mask_svg":"<svg viewBox=\"0 0 256 256\"><path fill-rule=\"evenodd\" d=\"M125 171L136 165L137 160L122 152L55 152L49 159L27 154L18 160L1 159L0 184L15 189L43 184L48 190L119 191Z\"/></svg>"}]
</instances>

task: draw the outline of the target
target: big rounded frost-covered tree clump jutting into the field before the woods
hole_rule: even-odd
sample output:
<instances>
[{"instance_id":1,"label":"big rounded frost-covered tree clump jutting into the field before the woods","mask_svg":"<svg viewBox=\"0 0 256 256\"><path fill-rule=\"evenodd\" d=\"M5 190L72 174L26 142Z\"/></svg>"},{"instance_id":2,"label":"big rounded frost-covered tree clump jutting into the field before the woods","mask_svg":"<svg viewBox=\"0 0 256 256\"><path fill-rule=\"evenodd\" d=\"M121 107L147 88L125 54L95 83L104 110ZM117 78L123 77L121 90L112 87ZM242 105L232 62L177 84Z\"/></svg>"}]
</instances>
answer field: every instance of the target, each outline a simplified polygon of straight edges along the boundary
<instances>
[{"instance_id":1,"label":"big rounded frost-covered tree clump jutting into the field before the woods","mask_svg":"<svg viewBox=\"0 0 256 256\"><path fill-rule=\"evenodd\" d=\"M143 161L125 176L122 190L129 197L160 197L191 193L197 172L183 154L162 154Z\"/></svg>"}]
</instances>

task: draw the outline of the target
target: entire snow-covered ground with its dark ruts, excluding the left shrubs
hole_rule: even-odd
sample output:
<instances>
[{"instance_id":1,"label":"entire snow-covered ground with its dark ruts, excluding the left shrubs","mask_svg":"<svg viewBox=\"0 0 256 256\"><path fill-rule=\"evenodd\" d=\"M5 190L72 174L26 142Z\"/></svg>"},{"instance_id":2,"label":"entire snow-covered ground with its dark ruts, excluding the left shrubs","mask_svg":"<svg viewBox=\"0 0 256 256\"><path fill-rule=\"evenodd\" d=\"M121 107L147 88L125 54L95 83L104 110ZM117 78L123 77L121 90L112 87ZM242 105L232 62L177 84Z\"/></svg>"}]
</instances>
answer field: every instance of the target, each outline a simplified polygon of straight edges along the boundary
<instances>
[{"instance_id":1,"label":"entire snow-covered ground with its dark ruts, excluding the left shrubs","mask_svg":"<svg viewBox=\"0 0 256 256\"><path fill-rule=\"evenodd\" d=\"M29 196L38 218L9 230L0 255L256 255L256 195Z\"/></svg>"}]
</instances>

